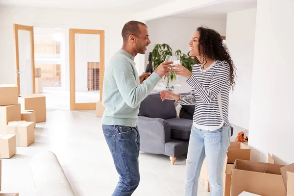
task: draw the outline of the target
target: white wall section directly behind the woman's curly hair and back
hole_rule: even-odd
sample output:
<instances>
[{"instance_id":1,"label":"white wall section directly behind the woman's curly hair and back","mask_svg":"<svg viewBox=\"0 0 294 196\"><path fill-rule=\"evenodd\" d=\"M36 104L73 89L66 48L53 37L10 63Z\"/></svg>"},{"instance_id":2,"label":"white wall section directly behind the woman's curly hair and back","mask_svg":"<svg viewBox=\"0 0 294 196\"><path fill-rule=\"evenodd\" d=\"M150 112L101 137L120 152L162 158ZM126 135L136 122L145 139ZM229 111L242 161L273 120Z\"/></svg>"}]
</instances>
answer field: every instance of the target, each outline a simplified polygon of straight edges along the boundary
<instances>
[{"instance_id":1,"label":"white wall section directly behind the woman's curly hair and back","mask_svg":"<svg viewBox=\"0 0 294 196\"><path fill-rule=\"evenodd\" d=\"M251 100L256 8L227 14L226 44L236 66L237 80L230 94L229 120L248 130Z\"/></svg>"}]
</instances>

